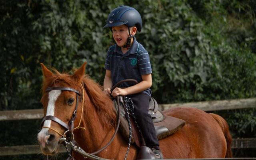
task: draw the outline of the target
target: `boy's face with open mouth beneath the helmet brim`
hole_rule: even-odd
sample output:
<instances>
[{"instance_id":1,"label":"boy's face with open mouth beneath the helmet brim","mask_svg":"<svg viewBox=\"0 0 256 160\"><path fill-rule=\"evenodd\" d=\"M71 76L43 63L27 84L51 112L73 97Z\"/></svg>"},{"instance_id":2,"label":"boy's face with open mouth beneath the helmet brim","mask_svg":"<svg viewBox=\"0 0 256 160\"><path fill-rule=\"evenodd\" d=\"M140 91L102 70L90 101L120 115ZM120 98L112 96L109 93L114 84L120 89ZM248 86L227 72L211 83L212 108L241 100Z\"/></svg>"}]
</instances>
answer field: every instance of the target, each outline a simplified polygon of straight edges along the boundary
<instances>
[{"instance_id":1,"label":"boy's face with open mouth beneath the helmet brim","mask_svg":"<svg viewBox=\"0 0 256 160\"><path fill-rule=\"evenodd\" d=\"M121 47L124 46L129 37L128 27L125 25L112 27L113 38L116 44Z\"/></svg>"}]
</instances>

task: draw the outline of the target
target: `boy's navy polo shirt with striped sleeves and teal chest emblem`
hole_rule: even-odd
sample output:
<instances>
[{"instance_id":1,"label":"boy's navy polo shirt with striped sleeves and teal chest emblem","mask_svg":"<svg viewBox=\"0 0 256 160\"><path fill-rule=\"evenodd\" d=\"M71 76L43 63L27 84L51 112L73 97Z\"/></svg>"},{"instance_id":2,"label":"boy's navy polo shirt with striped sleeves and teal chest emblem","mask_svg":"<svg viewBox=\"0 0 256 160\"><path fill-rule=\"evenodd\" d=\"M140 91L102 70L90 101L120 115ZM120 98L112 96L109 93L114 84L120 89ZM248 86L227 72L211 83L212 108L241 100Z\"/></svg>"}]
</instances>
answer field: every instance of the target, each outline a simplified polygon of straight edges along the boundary
<instances>
[{"instance_id":1,"label":"boy's navy polo shirt with striped sleeves and teal chest emblem","mask_svg":"<svg viewBox=\"0 0 256 160\"><path fill-rule=\"evenodd\" d=\"M152 73L148 51L136 41L135 37L130 50L125 54L117 44L108 48L105 69L111 71L113 86L125 79L135 79L140 83L141 75ZM124 82L120 87L126 88L133 85L133 82ZM142 92L151 96L150 88Z\"/></svg>"}]
</instances>

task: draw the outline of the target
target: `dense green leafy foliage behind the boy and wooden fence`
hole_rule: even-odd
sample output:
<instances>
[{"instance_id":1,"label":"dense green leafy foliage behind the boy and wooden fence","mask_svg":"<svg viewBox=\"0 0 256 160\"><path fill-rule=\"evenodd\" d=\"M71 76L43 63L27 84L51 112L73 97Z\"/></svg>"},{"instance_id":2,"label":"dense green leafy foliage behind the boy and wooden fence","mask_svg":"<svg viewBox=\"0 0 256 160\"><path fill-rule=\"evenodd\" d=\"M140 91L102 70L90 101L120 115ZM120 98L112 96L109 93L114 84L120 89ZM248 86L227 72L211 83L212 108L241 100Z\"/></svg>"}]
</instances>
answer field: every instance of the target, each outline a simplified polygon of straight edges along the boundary
<instances>
[{"instance_id":1,"label":"dense green leafy foliage behind the boy and wooden fence","mask_svg":"<svg viewBox=\"0 0 256 160\"><path fill-rule=\"evenodd\" d=\"M159 103L256 96L253 0L9 0L0 2L0 110L41 108L40 62L69 72L87 61L103 84L114 40L102 27L122 4L142 15L136 38L150 53ZM248 128L255 136L254 109L223 116L237 137Z\"/></svg>"}]
</instances>

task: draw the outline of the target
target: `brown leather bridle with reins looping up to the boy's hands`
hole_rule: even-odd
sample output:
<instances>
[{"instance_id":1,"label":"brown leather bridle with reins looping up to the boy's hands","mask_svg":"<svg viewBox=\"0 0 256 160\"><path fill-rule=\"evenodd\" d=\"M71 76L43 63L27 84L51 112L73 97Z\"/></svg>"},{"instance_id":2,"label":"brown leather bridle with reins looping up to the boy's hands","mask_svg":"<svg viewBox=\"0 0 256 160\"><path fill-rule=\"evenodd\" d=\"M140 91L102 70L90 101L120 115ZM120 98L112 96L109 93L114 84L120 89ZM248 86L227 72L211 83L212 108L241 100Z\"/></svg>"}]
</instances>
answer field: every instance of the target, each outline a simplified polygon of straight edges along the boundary
<instances>
[{"instance_id":1,"label":"brown leather bridle with reins looping up to the boy's hands","mask_svg":"<svg viewBox=\"0 0 256 160\"><path fill-rule=\"evenodd\" d=\"M122 80L122 81L118 82L116 85L114 85L112 87L111 92L114 90L114 88L120 86L120 84L122 84L123 82L128 82L128 81L138 83L136 80L133 80L133 79ZM118 121L117 121L116 129L115 129L115 132L114 132L112 138L100 150L89 154L89 153L86 153L84 150L82 150L82 148L75 145L75 144L77 144L77 142L74 140L74 134L73 134L73 131L75 129L82 128L82 127L80 127L80 122L81 122L82 116L83 116L84 87L83 87L82 84L81 84L81 86L82 86L82 92L83 92L82 95L80 94L80 92L78 90L75 90L75 89L70 88L70 87L48 87L48 88L46 88L46 91L65 90L65 91L75 92L76 93L76 107L75 107L75 110L72 114L72 118L70 119L68 124L66 124L65 122L63 122L62 120L57 118L56 116L44 116L43 119L42 119L42 122L41 122L41 127L42 128L49 128L49 129L53 130L54 132L58 133L60 136L62 136L62 138L60 138L60 143L63 143L65 147L66 147L67 144L71 144L72 150L82 154L84 157L91 158L91 159L94 159L94 160L107 160L107 159L95 156L94 154L98 154L99 152L101 152L102 150L107 148L111 144L111 142L114 140L114 137L116 136L116 134L118 132L118 128L119 128L119 124L120 124L120 100L119 100L119 96L116 96L116 101L117 101L117 104L118 104ZM78 126L74 128L74 120L76 119L76 112L77 112L78 103L79 103L79 100L78 100L79 96L82 96L82 112L81 112L80 122L79 122ZM66 131L64 132L64 134L61 134L60 132L58 132L57 130L55 130L53 128L43 126L44 121L46 121L46 120L53 120L54 122L57 122L58 124L60 124L60 126L64 127L66 129ZM84 128L84 130L85 130L85 128ZM68 149L67 149L67 151L68 151ZM70 153L69 153L69 155L72 158ZM74 158L72 158L72 159L74 159Z\"/></svg>"}]
</instances>

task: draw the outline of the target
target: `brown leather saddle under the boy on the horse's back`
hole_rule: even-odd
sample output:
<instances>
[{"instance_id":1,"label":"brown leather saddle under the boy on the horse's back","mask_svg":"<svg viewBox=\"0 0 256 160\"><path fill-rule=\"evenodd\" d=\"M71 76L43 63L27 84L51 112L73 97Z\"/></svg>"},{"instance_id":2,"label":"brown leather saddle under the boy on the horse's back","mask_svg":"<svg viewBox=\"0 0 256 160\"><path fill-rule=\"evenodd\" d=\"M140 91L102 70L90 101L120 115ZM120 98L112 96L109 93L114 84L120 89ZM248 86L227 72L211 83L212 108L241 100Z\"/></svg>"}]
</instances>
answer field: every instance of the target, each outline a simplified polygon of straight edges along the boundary
<instances>
[{"instance_id":1,"label":"brown leather saddle under the boy on the horse's back","mask_svg":"<svg viewBox=\"0 0 256 160\"><path fill-rule=\"evenodd\" d=\"M126 140L128 140L129 139L129 124L126 119L126 112L124 109L124 97L119 96L119 101L120 101L120 112L121 112L119 130L120 130L122 136L124 136L124 138ZM116 100L113 100L113 102L115 104L114 106L115 106L116 112L118 112L118 106L117 106ZM154 122L156 136L157 136L158 140L161 140L167 136L174 134L175 132L180 130L185 125L184 120L175 118L172 116L164 115L160 110L158 110L158 104L157 104L156 100L152 97L150 99L148 113L150 114L150 116ZM131 125L132 126L131 143L132 144L135 143L138 147L140 147L140 146L142 146L140 133L138 131L138 128L137 128L132 116L130 116L130 121L132 124Z\"/></svg>"}]
</instances>

